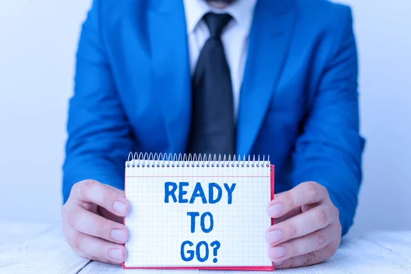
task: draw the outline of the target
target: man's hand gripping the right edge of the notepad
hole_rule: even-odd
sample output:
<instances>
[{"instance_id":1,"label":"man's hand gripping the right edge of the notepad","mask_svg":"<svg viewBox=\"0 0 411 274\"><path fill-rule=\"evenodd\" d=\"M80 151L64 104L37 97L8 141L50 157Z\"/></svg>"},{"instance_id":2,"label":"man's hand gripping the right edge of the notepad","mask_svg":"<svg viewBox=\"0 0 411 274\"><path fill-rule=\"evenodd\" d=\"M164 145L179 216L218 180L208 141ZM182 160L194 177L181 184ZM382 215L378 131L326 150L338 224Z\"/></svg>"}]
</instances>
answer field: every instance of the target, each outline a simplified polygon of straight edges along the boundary
<instances>
[{"instance_id":1,"label":"man's hand gripping the right edge of the notepad","mask_svg":"<svg viewBox=\"0 0 411 274\"><path fill-rule=\"evenodd\" d=\"M325 187L315 182L299 184L275 195L267 212L275 219L265 235L275 268L317 264L336 253L341 225Z\"/></svg>"}]
</instances>

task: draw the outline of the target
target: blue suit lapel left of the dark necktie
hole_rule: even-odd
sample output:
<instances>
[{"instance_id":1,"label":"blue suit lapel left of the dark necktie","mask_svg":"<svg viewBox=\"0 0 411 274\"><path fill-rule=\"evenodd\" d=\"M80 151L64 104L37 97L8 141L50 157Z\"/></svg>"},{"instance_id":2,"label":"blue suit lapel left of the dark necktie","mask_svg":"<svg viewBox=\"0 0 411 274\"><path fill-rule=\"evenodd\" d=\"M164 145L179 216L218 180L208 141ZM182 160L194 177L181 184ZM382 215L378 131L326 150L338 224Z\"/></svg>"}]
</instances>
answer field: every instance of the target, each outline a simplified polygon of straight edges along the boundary
<instances>
[{"instance_id":1,"label":"blue suit lapel left of the dark necktie","mask_svg":"<svg viewBox=\"0 0 411 274\"><path fill-rule=\"evenodd\" d=\"M148 37L153 64L153 89L163 112L170 153L184 152L190 127L190 65L182 1L149 3Z\"/></svg>"}]
</instances>

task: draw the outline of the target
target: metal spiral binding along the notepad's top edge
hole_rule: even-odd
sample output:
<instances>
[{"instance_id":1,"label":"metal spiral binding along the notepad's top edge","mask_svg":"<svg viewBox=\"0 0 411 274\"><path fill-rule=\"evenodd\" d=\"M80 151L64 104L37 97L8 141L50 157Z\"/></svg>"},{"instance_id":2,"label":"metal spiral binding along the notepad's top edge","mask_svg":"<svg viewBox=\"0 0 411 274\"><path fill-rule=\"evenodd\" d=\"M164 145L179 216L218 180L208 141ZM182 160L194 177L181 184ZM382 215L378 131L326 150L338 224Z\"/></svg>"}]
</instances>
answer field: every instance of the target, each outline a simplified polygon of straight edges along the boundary
<instances>
[{"instance_id":1,"label":"metal spiral binding along the notepad's top edge","mask_svg":"<svg viewBox=\"0 0 411 274\"><path fill-rule=\"evenodd\" d=\"M247 159L247 160L246 160ZM182 154L179 153L132 153L130 152L126 162L127 167L269 167L270 166L270 156L265 159L265 155L262 160L260 160L260 155L256 160L256 155L245 155L241 156L234 155L231 159L231 155L226 157L226 155L211 155L208 157L206 154Z\"/></svg>"}]
</instances>

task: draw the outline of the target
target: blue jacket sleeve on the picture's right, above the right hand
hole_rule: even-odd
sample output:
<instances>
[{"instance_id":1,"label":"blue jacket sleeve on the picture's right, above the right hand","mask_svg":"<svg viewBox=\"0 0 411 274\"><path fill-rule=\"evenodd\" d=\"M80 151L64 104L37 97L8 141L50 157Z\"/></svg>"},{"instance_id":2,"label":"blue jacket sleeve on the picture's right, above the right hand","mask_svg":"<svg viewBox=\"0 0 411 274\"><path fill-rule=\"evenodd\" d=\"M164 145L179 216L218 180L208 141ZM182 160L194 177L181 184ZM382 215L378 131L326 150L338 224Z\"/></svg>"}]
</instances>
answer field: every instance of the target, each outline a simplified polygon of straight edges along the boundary
<instances>
[{"instance_id":1,"label":"blue jacket sleeve on the picture's right, above the right hand","mask_svg":"<svg viewBox=\"0 0 411 274\"><path fill-rule=\"evenodd\" d=\"M329 192L340 212L342 234L353 223L362 180L364 138L359 133L358 57L351 9L343 7L316 88L312 108L303 123L295 153L292 181L317 182Z\"/></svg>"}]
</instances>

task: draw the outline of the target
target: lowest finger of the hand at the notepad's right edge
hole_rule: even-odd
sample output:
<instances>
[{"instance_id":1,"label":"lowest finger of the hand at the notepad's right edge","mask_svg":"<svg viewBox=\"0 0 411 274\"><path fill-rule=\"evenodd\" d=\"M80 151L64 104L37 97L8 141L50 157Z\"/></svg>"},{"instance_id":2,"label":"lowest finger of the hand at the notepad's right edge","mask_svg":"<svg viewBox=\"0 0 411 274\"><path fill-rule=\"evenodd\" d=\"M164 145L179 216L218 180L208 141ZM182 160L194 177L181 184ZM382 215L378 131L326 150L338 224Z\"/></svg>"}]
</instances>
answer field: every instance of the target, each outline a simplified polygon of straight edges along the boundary
<instances>
[{"instance_id":1,"label":"lowest finger of the hand at the notepad's right edge","mask_svg":"<svg viewBox=\"0 0 411 274\"><path fill-rule=\"evenodd\" d=\"M328 260L336 253L339 241L330 242L323 249L312 251L284 261L275 262L275 269L290 269L294 267L310 266Z\"/></svg>"}]
</instances>

